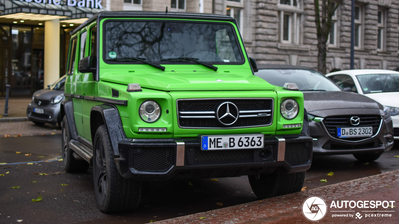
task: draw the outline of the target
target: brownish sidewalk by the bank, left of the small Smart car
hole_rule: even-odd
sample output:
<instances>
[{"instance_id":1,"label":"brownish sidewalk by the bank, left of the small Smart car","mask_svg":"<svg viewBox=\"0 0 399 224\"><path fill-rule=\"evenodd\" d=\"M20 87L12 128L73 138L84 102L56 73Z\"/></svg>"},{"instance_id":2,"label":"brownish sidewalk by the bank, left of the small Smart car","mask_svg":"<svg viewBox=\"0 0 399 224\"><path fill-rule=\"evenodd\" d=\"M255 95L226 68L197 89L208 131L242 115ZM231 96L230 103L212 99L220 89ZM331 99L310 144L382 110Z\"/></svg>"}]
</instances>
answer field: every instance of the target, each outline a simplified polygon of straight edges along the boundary
<instances>
[{"instance_id":1,"label":"brownish sidewalk by the bank, left of the small Smart car","mask_svg":"<svg viewBox=\"0 0 399 224\"><path fill-rule=\"evenodd\" d=\"M26 117L26 108L32 101L32 97L10 97L8 98L8 116L4 116L6 97L0 97L0 122L23 121Z\"/></svg>"}]
</instances>

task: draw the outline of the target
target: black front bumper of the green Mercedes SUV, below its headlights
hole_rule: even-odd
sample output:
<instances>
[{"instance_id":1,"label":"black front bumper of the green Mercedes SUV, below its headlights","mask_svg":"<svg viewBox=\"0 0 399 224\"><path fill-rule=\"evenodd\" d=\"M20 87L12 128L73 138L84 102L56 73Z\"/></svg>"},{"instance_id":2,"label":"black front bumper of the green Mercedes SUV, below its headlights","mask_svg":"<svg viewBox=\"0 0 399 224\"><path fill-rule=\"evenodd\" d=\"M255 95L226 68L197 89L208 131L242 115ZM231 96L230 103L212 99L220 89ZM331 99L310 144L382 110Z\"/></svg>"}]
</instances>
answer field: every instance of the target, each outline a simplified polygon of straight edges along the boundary
<instances>
[{"instance_id":1,"label":"black front bumper of the green Mercedes SUV, below its headlights","mask_svg":"<svg viewBox=\"0 0 399 224\"><path fill-rule=\"evenodd\" d=\"M196 138L124 139L115 159L130 179L239 177L282 169L306 171L312 161L312 138L305 134L265 136L262 149L202 151Z\"/></svg>"}]
</instances>

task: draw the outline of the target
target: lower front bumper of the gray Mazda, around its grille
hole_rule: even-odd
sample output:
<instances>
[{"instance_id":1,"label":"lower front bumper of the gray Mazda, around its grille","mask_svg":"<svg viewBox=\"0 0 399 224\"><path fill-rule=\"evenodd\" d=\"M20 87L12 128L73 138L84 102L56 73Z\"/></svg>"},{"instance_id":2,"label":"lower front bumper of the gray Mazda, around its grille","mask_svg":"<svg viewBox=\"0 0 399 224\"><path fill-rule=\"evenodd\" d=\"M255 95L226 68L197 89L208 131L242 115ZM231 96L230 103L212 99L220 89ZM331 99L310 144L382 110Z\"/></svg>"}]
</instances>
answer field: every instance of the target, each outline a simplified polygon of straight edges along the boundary
<instances>
[{"instance_id":1,"label":"lower front bumper of the gray Mazda, around its grille","mask_svg":"<svg viewBox=\"0 0 399 224\"><path fill-rule=\"evenodd\" d=\"M374 138L348 142L338 138L332 138L327 134L322 122L309 122L310 136L313 141L313 153L315 155L340 155L365 152L386 152L393 147L392 138L387 134L393 134L392 120L383 120L379 133Z\"/></svg>"}]
</instances>

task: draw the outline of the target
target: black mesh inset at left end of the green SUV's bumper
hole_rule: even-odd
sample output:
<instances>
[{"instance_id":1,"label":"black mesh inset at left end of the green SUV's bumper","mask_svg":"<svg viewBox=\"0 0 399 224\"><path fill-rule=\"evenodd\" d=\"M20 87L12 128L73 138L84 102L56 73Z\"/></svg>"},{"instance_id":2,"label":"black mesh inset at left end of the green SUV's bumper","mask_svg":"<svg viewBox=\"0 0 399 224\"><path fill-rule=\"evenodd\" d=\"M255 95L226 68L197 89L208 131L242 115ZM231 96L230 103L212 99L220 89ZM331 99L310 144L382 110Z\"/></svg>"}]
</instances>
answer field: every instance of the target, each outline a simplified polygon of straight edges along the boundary
<instances>
[{"instance_id":1,"label":"black mesh inset at left end of the green SUV's bumper","mask_svg":"<svg viewBox=\"0 0 399 224\"><path fill-rule=\"evenodd\" d=\"M165 172L173 163L173 147L142 147L133 151L133 168L137 171Z\"/></svg>"}]
</instances>

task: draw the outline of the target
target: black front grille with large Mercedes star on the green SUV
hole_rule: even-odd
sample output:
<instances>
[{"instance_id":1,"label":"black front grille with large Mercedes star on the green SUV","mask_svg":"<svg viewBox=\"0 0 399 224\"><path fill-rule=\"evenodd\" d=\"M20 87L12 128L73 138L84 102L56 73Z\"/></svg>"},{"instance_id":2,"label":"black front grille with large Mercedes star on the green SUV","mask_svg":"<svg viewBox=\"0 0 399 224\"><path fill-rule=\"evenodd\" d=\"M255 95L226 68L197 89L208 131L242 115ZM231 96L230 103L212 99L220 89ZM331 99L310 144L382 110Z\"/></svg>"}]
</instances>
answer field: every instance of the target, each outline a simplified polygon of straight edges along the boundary
<instances>
[{"instance_id":1,"label":"black front grille with large Mercedes star on the green SUV","mask_svg":"<svg viewBox=\"0 0 399 224\"><path fill-rule=\"evenodd\" d=\"M273 98L179 99L176 104L180 128L259 127L273 122ZM227 111L231 116L223 118Z\"/></svg>"}]
</instances>

